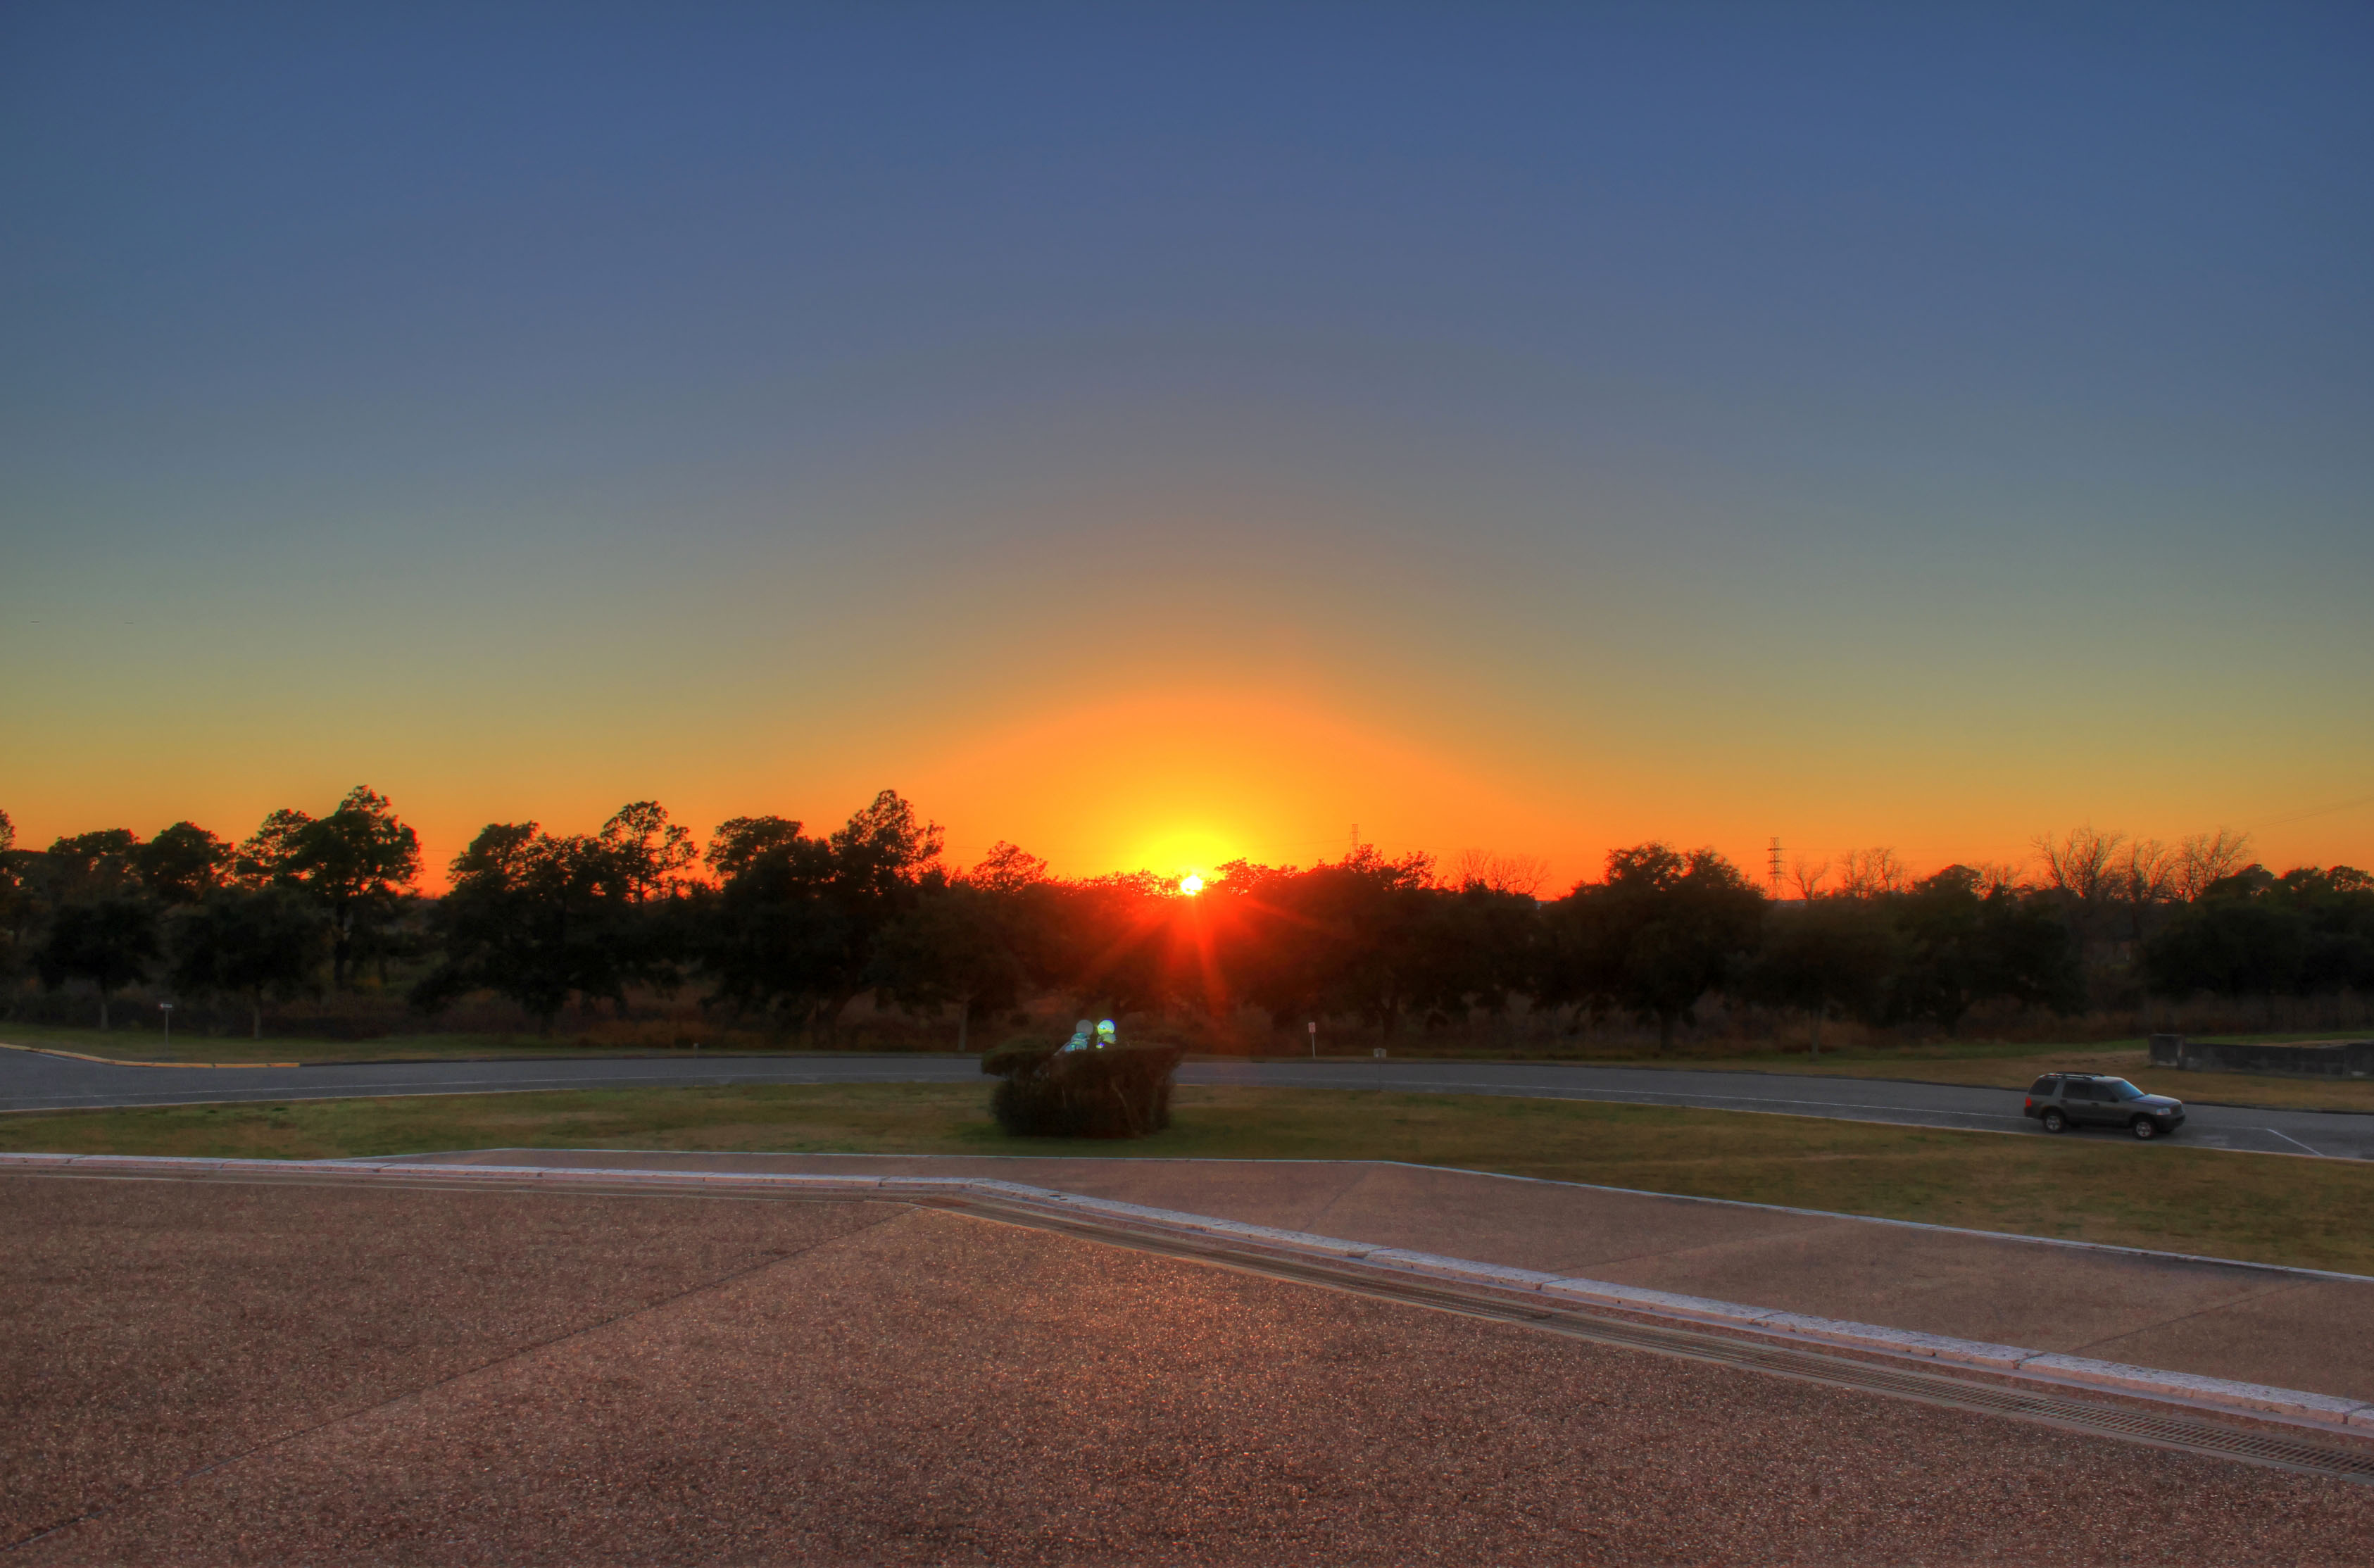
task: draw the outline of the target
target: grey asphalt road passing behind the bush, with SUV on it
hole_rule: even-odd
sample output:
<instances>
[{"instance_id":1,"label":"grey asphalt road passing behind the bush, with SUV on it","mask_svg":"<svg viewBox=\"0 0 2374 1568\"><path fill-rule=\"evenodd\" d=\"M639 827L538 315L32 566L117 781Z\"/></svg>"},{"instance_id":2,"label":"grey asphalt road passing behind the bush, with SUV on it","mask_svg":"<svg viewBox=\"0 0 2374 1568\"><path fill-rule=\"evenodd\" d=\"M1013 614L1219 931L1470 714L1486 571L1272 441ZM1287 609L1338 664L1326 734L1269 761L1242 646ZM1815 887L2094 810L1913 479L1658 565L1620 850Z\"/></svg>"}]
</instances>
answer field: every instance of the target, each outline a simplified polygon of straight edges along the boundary
<instances>
[{"instance_id":1,"label":"grey asphalt road passing behind the bush, with SUV on it","mask_svg":"<svg viewBox=\"0 0 2374 1568\"><path fill-rule=\"evenodd\" d=\"M971 1057L591 1057L560 1062L328 1062L318 1067L119 1067L0 1050L0 1112L226 1100L344 1100L354 1095L477 1095L553 1088L681 1088L712 1083L973 1083ZM1572 1062L1189 1062L1180 1083L1258 1088L1394 1088L1403 1093L1621 1100L1700 1109L1778 1112L2039 1133L2020 1093L1894 1079L1816 1079L1762 1071L1581 1067ZM2160 1088L2158 1081L2151 1088ZM2177 1093L2194 1088L2184 1083ZM2179 1138L2267 1155L2374 1159L2374 1114L2191 1105ZM2075 1133L2125 1138L2106 1128Z\"/></svg>"}]
</instances>

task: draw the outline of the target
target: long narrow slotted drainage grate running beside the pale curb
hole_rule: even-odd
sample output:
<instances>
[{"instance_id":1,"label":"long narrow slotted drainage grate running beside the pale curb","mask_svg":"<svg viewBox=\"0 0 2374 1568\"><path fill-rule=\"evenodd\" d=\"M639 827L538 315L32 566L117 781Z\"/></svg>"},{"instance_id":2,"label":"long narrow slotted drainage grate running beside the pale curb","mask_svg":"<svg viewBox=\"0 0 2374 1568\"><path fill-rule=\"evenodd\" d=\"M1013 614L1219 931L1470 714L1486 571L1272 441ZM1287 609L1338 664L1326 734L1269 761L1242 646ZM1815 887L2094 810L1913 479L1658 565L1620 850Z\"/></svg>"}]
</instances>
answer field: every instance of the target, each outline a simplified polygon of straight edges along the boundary
<instances>
[{"instance_id":1,"label":"long narrow slotted drainage grate running beside the pale curb","mask_svg":"<svg viewBox=\"0 0 2374 1568\"><path fill-rule=\"evenodd\" d=\"M1638 1323L1581 1309L1543 1307L1484 1288L1467 1290L1443 1281L1403 1281L1382 1271L1356 1266L1332 1269L1327 1264L1230 1247L1225 1243L1102 1226L1075 1216L1052 1216L1021 1207L1009 1209L976 1197L926 1202L931 1207L964 1209L980 1214L983 1219L1002 1219L1035 1231L1061 1231L1078 1235L1080 1240L1132 1247L1137 1252L1161 1252L1187 1262L1220 1264L1303 1285L1348 1290L1353 1295L1367 1295L1410 1307L1432 1307L1436 1311L1458 1311L1474 1319L1524 1323L1529 1328L1541 1328L1574 1340L1593 1340L1598 1345L1614 1345L1621 1349L1643 1349L1690 1361L1714 1361L1776 1378L1795 1378L1799 1383L1826 1383L1830 1387L1847 1387L1866 1395L1887 1395L1894 1399L1916 1399L1921 1404L1940 1404L1980 1416L2004 1416L2008 1421L2054 1425L2091 1437L2141 1442L2184 1454L2205 1454L2210 1459L2234 1459L2241 1463L2300 1471L2308 1475L2334 1475L2341 1480L2374 1485L2374 1447L2319 1442L2310 1435L2291 1437L2281 1430L2134 1409L2129 1404L2118 1404L2110 1397L2094 1399L2084 1395L2054 1395L1999 1383L1980 1383L1975 1378L1956 1378L1951 1373L1861 1361L1856 1357L1837 1357L1821 1349L1759 1345L1752 1340L1697 1333L1690 1328L1662 1328L1657 1323Z\"/></svg>"}]
</instances>

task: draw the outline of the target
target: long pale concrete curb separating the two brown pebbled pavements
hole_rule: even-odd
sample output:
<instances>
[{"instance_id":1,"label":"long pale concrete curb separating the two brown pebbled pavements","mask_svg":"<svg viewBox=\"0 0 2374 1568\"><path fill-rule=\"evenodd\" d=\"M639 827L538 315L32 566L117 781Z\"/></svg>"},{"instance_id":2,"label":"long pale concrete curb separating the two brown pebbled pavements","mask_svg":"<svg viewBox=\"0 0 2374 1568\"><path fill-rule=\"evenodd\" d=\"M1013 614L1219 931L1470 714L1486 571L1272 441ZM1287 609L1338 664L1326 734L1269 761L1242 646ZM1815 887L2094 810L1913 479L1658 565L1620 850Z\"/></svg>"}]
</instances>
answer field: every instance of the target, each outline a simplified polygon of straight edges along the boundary
<instances>
[{"instance_id":1,"label":"long pale concrete curb separating the two brown pebbled pavements","mask_svg":"<svg viewBox=\"0 0 2374 1568\"><path fill-rule=\"evenodd\" d=\"M1344 1240L1339 1235L1313 1235L1308 1231L1280 1231L1275 1226L1253 1226L1234 1219L1215 1219L1211 1214L1187 1214L1180 1209L1154 1209L1147 1205L1118 1202L1113 1197L1085 1197L1080 1193L1059 1193L1054 1188L1037 1188L1021 1181L997 1181L988 1176L650 1171L539 1164L404 1164L368 1159L195 1159L180 1155L0 1155L0 1174L7 1171L74 1171L93 1176L396 1176L413 1181L434 1178L439 1183L534 1181L539 1186L639 1186L679 1193L760 1190L848 1197L983 1197L1045 1214L1094 1216L1121 1228L1230 1240L1299 1259L1358 1264L1384 1273L1434 1278L1453 1285L1481 1285L1512 1295L1536 1295L1545 1304L1614 1309L1669 1323L1714 1326L1733 1333L1797 1340L1892 1359L1968 1366L1973 1371L1987 1371L2025 1383L2089 1387L2132 1399L2208 1406L2243 1416L2374 1435L2374 1399L2310 1395L2293 1387L2203 1378L2196 1373L2160 1371L2153 1366L2127 1366L2120 1361L2023 1349L2018 1345L1956 1340L1951 1335L1913 1333L1880 1323L1816 1319L1797 1311L1780 1311L1776 1307L1745 1307L1740 1302L1676 1295L1671 1290L1645 1290L1640 1285L1543 1273L1538 1269L1479 1264L1474 1259L1443 1257L1436 1252L1379 1247L1375 1243Z\"/></svg>"}]
</instances>

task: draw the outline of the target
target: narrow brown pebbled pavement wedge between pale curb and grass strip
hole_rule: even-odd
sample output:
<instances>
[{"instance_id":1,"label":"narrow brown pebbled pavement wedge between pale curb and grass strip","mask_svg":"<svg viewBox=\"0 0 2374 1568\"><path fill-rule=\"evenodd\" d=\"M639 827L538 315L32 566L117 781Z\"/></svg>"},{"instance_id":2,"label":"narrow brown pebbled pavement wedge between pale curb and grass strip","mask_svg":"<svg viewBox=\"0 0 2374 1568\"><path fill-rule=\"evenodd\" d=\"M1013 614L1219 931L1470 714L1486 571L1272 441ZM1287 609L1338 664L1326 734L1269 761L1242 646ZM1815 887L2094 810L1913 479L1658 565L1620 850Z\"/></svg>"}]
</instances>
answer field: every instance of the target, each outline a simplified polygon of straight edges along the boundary
<instances>
[{"instance_id":1,"label":"narrow brown pebbled pavement wedge between pale curb and grass strip","mask_svg":"<svg viewBox=\"0 0 2374 1568\"><path fill-rule=\"evenodd\" d=\"M472 1150L380 1164L992 1176L1617 1285L2374 1399L2374 1278L1365 1159Z\"/></svg>"}]
</instances>

